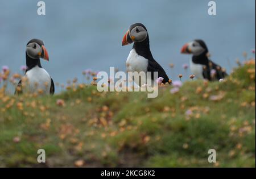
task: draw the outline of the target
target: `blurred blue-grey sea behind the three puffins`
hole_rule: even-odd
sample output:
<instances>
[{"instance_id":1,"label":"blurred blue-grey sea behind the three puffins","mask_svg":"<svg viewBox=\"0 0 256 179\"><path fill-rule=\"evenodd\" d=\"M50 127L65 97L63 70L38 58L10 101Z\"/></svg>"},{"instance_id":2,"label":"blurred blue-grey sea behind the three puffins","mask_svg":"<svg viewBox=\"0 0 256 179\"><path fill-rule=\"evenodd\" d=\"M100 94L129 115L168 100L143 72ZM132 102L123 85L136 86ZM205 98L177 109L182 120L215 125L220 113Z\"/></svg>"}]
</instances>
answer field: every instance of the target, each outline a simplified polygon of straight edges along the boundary
<instances>
[{"instance_id":1,"label":"blurred blue-grey sea behind the three puffins","mask_svg":"<svg viewBox=\"0 0 256 179\"><path fill-rule=\"evenodd\" d=\"M42 60L42 65L55 82L81 81L84 69L109 72L115 66L125 71L132 45L122 47L121 42L136 22L147 27L153 56L174 80L191 58L180 54L187 41L203 39L211 59L228 72L237 58L244 59L244 51L253 56L255 48L254 0L217 0L216 16L208 15L205 0L45 0L45 16L37 14L37 2L0 1L0 66L19 72L26 63L27 41L39 38L49 53L49 62Z\"/></svg>"}]
</instances>

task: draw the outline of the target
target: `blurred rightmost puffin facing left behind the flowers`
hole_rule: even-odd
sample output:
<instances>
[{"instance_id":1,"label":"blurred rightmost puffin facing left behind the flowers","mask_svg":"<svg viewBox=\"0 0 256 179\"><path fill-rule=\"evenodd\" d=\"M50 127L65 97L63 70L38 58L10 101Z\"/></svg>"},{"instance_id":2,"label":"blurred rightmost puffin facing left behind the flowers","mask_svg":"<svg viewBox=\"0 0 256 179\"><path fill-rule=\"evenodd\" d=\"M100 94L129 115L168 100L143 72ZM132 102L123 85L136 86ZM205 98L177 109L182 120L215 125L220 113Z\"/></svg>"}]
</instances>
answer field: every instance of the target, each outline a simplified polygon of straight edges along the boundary
<instances>
[{"instance_id":1,"label":"blurred rightmost puffin facing left behind the flowers","mask_svg":"<svg viewBox=\"0 0 256 179\"><path fill-rule=\"evenodd\" d=\"M219 81L228 76L224 68L209 59L209 51L203 40L196 39L186 43L180 52L193 55L190 60L190 69L196 78Z\"/></svg>"}]
</instances>

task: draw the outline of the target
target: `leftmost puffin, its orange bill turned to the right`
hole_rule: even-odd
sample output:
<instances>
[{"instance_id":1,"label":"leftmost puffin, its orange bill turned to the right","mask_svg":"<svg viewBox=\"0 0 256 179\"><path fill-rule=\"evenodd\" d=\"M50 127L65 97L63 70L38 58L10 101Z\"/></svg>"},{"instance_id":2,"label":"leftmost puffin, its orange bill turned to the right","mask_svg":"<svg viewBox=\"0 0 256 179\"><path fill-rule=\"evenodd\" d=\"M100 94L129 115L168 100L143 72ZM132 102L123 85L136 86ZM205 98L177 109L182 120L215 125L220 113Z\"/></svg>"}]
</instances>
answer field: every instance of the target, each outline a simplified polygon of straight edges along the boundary
<instances>
[{"instance_id":1,"label":"leftmost puffin, its orange bill turned to the right","mask_svg":"<svg viewBox=\"0 0 256 179\"><path fill-rule=\"evenodd\" d=\"M26 47L27 69L24 78L19 81L15 94L38 93L48 95L54 94L54 82L49 73L42 67L40 58L49 61L49 56L44 43L39 39L28 41Z\"/></svg>"}]
</instances>

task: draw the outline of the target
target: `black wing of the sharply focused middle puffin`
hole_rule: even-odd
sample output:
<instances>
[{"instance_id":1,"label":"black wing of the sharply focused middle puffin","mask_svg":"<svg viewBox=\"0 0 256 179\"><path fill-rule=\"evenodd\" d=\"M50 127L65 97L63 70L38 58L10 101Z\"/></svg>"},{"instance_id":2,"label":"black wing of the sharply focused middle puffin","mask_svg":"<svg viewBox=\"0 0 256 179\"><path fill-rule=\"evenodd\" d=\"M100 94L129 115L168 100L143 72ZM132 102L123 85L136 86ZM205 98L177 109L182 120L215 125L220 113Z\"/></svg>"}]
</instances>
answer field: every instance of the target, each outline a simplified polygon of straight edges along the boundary
<instances>
[{"instance_id":1,"label":"black wing of the sharply focused middle puffin","mask_svg":"<svg viewBox=\"0 0 256 179\"><path fill-rule=\"evenodd\" d=\"M169 81L169 78L162 68L161 65L159 65L155 60L148 60L148 66L147 66L147 71L151 72L151 79L154 80L154 72L158 72L158 77L163 77L163 84Z\"/></svg>"}]
</instances>

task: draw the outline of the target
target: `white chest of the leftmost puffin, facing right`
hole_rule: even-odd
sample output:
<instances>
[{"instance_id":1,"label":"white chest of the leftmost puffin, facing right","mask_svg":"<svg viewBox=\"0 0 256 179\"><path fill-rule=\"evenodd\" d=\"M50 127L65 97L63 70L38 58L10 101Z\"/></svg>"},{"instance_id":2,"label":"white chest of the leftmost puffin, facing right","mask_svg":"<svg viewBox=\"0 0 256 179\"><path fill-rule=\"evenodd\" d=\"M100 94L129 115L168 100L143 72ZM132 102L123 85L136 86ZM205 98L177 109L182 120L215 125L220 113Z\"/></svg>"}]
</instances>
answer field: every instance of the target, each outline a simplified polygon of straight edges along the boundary
<instances>
[{"instance_id":1,"label":"white chest of the leftmost puffin, facing right","mask_svg":"<svg viewBox=\"0 0 256 179\"><path fill-rule=\"evenodd\" d=\"M51 77L45 69L35 66L27 71L26 78L26 91L34 93L38 90L42 90L43 94L49 94L51 88Z\"/></svg>"}]
</instances>

